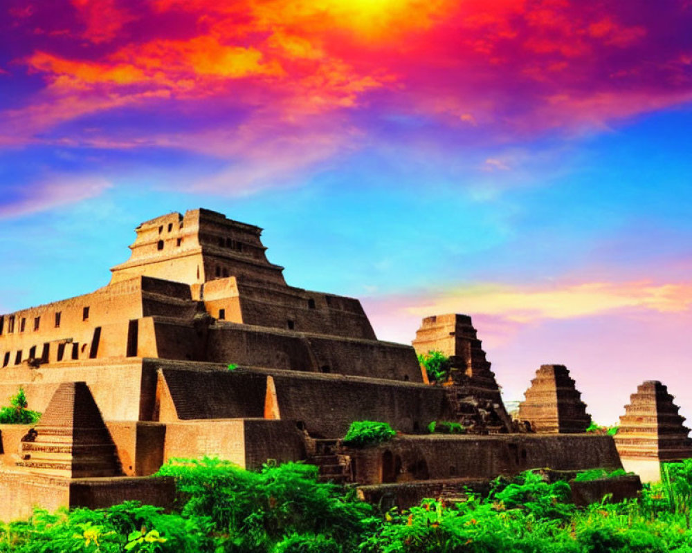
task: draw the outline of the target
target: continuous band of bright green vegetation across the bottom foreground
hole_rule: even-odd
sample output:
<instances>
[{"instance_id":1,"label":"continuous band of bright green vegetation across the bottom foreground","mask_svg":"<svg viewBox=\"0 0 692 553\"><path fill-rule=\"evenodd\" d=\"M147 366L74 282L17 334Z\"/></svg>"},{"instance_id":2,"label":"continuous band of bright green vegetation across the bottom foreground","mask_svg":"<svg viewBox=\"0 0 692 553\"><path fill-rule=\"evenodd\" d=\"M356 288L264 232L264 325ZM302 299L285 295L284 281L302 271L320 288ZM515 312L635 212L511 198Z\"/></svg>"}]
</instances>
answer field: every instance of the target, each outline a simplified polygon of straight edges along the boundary
<instances>
[{"instance_id":1,"label":"continuous band of bright green vegetation across the bottom foreground","mask_svg":"<svg viewBox=\"0 0 692 553\"><path fill-rule=\"evenodd\" d=\"M287 463L261 471L226 461L173 460L160 474L179 492L176 512L136 503L37 511L0 525L0 552L182 553L683 553L692 550L692 460L666 465L641 498L570 503L567 482L535 472L495 480L487 498L404 512L376 509L352 491ZM614 474L610 474L614 476Z\"/></svg>"}]
</instances>

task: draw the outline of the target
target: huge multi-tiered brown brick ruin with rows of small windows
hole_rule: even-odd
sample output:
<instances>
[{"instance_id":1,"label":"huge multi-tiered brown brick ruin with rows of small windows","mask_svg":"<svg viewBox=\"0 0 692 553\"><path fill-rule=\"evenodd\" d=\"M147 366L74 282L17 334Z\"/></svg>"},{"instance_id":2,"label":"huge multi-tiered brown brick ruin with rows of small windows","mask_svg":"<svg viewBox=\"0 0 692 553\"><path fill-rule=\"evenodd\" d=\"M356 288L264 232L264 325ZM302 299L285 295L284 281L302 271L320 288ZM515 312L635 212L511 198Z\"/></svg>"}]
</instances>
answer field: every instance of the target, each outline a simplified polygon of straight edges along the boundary
<instances>
[{"instance_id":1,"label":"huge multi-tiered brown brick ruin with rows of small windows","mask_svg":"<svg viewBox=\"0 0 692 553\"><path fill-rule=\"evenodd\" d=\"M160 216L136 228L108 285L0 315L0 398L22 386L43 413L0 425L0 518L170 505L171 482L152 475L172 457L306 460L400 505L525 469L621 467L610 436L565 433L583 430L576 392L564 397L579 413L558 432L516 432L470 317L424 319L415 348L380 341L357 299L288 285L261 234L207 209ZM426 382L428 349L452 357L444 385ZM565 380L552 374L554 393ZM397 436L345 447L361 420ZM430 434L430 422L466 433Z\"/></svg>"}]
</instances>

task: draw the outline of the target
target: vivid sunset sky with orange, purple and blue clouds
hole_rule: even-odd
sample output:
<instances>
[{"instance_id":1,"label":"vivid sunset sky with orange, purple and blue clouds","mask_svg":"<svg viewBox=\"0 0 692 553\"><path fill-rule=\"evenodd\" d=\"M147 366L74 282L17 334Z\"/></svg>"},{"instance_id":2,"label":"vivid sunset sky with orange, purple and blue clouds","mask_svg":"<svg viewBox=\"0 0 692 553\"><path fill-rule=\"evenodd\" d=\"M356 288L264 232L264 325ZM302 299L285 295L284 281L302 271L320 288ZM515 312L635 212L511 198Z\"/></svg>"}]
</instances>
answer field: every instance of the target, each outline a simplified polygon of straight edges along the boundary
<instances>
[{"instance_id":1,"label":"vivid sunset sky with orange, purple and blue clouds","mask_svg":"<svg viewBox=\"0 0 692 553\"><path fill-rule=\"evenodd\" d=\"M506 400L692 417L691 131L690 0L0 0L0 312L208 207L381 339L471 315Z\"/></svg>"}]
</instances>

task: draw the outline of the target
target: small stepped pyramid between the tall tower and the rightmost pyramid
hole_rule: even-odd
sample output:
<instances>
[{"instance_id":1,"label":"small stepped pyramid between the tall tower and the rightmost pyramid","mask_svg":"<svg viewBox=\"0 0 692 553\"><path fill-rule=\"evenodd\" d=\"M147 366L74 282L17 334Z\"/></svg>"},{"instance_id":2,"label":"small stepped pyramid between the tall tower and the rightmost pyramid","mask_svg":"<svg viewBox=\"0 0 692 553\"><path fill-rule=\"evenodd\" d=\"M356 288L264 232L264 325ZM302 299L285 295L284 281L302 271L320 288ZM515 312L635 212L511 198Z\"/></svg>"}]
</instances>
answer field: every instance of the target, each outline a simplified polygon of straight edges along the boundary
<instances>
[{"instance_id":1,"label":"small stepped pyramid between the tall tower and the rightmost pyramid","mask_svg":"<svg viewBox=\"0 0 692 553\"><path fill-rule=\"evenodd\" d=\"M564 365L541 365L525 396L518 417L529 421L536 432L583 432L591 422L581 393Z\"/></svg>"}]
</instances>

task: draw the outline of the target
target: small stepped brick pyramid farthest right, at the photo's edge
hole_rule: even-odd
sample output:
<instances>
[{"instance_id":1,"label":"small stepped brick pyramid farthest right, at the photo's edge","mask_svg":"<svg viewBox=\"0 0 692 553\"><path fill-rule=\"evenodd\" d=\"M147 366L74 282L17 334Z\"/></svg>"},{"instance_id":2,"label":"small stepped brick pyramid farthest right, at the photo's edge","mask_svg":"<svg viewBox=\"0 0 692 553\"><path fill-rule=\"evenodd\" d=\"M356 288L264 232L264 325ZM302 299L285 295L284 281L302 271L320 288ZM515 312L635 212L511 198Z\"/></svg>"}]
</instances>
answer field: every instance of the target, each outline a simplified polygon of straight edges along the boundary
<instances>
[{"instance_id":1,"label":"small stepped brick pyramid farthest right, at the photo's edge","mask_svg":"<svg viewBox=\"0 0 692 553\"><path fill-rule=\"evenodd\" d=\"M692 457L689 429L682 423L668 388L657 380L647 380L630 395L630 404L620 417L615 446L621 457L661 461Z\"/></svg>"}]
</instances>

